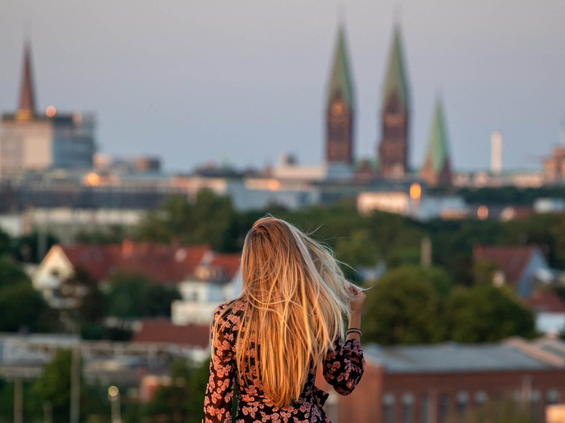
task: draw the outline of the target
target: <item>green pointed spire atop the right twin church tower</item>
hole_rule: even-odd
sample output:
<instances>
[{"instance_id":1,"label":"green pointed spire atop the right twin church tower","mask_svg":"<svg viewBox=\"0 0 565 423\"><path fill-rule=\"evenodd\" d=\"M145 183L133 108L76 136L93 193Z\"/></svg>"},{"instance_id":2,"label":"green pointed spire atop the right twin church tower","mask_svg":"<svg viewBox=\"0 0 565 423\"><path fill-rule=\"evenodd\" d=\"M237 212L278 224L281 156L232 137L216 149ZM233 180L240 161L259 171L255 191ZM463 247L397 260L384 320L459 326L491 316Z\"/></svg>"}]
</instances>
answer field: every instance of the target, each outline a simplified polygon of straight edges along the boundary
<instances>
[{"instance_id":1,"label":"green pointed spire atop the right twin church tower","mask_svg":"<svg viewBox=\"0 0 565 423\"><path fill-rule=\"evenodd\" d=\"M401 107L405 109L408 108L408 97L410 92L404 62L400 27L398 24L395 24L392 45L390 46L388 69L386 70L385 83L383 87L383 100L381 104L383 110L386 108L386 103L389 101L390 96L394 92L398 95Z\"/></svg>"}]
</instances>

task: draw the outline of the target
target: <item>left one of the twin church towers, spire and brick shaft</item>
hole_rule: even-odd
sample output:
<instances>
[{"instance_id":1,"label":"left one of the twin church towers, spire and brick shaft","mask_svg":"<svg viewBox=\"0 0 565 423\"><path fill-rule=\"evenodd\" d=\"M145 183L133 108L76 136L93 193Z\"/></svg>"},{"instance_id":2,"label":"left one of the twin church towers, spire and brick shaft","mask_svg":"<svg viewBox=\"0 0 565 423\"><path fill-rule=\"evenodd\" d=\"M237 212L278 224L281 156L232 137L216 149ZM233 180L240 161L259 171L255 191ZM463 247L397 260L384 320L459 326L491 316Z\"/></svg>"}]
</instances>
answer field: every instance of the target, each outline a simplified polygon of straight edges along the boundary
<instances>
[{"instance_id":1,"label":"left one of the twin church towers, spire and brick shaft","mask_svg":"<svg viewBox=\"0 0 565 423\"><path fill-rule=\"evenodd\" d=\"M344 25L337 32L336 52L328 83L325 160L350 165L353 162L354 92Z\"/></svg>"}]
</instances>

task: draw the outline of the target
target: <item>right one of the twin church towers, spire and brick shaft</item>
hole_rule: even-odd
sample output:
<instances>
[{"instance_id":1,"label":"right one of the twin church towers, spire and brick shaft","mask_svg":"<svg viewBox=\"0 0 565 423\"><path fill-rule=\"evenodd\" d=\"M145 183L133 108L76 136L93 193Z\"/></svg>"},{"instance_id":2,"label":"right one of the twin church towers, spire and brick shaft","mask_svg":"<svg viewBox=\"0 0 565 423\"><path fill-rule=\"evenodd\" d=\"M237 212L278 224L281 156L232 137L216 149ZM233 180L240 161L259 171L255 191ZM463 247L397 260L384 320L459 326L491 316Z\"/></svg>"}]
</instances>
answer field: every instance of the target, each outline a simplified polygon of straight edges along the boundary
<instances>
[{"instance_id":1,"label":"right one of the twin church towers, spire and brick shaft","mask_svg":"<svg viewBox=\"0 0 565 423\"><path fill-rule=\"evenodd\" d=\"M379 169L385 178L400 178L408 171L408 119L410 90L406 75L400 29L394 27L381 103Z\"/></svg>"}]
</instances>

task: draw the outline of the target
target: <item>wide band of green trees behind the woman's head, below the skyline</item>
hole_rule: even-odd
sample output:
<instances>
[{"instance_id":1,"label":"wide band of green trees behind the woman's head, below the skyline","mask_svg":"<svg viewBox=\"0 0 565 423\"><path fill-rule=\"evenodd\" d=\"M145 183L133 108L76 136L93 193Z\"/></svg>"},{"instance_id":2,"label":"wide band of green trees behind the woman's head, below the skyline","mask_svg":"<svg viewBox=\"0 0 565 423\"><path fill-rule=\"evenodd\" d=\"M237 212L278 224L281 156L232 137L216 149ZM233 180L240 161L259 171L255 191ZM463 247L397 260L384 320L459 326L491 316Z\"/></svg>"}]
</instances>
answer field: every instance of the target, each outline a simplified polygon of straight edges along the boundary
<instances>
[{"instance_id":1,"label":"wide band of green trees behind the woman's head, below the skyline","mask_svg":"<svg viewBox=\"0 0 565 423\"><path fill-rule=\"evenodd\" d=\"M189 244L211 244L221 252L237 252L253 222L266 213L315 232L316 238L331 245L337 257L352 267L374 266L381 260L389 268L418 263L424 236L432 240L434 265L444 268L457 284L473 282L472 246L477 243L535 243L544 250L551 266L565 267L565 214L533 215L510 222L436 219L420 223L379 211L360 215L354 202L349 201L297 211L272 206L238 212L228 197L202 190L192 204L179 196L170 197L131 235L138 240L167 243L179 239Z\"/></svg>"}]
</instances>

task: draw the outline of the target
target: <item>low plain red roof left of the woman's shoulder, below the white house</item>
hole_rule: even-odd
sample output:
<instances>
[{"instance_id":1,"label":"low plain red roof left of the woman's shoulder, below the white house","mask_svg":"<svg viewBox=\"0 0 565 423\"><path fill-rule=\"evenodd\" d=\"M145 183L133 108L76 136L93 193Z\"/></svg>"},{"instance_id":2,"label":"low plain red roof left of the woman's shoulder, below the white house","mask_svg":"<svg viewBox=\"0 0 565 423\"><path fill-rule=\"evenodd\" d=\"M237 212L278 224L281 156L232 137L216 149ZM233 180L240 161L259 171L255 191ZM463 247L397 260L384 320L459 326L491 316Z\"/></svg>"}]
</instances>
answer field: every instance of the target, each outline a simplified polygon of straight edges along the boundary
<instances>
[{"instance_id":1,"label":"low plain red roof left of the woman's shoulder, below the white house","mask_svg":"<svg viewBox=\"0 0 565 423\"><path fill-rule=\"evenodd\" d=\"M141 321L141 329L133 333L132 342L176 343L206 348L210 344L210 325L173 325L168 319Z\"/></svg>"}]
</instances>

